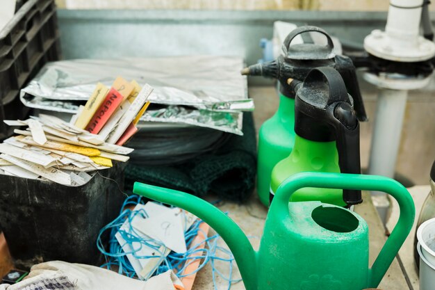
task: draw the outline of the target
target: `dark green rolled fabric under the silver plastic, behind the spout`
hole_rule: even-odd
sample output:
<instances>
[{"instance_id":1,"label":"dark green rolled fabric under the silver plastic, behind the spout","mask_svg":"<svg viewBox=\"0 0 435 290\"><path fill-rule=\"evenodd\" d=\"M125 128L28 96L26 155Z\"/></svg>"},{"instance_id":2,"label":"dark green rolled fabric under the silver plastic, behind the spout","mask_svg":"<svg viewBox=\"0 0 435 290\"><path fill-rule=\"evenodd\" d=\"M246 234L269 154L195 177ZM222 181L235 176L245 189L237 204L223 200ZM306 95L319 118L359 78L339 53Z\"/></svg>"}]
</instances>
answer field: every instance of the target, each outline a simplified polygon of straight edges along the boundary
<instances>
[{"instance_id":1,"label":"dark green rolled fabric under the silver plastic, behind the spout","mask_svg":"<svg viewBox=\"0 0 435 290\"><path fill-rule=\"evenodd\" d=\"M134 182L164 186L197 196L215 193L220 198L243 202L254 190L256 134L252 113L243 116L243 136L232 135L214 152L196 156L175 166L136 166L125 171L126 189Z\"/></svg>"}]
</instances>

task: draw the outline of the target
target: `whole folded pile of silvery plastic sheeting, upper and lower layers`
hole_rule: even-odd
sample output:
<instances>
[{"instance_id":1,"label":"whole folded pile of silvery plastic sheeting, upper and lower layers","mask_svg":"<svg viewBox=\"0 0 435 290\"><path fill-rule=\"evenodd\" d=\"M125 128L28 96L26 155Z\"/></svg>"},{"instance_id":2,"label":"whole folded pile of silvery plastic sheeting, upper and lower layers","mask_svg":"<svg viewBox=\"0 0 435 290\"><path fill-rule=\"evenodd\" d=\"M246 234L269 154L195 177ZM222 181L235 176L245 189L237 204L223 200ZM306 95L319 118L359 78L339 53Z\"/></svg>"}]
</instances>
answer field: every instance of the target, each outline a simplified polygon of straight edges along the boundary
<instances>
[{"instance_id":1,"label":"whole folded pile of silvery plastic sheeting, upper and lower layers","mask_svg":"<svg viewBox=\"0 0 435 290\"><path fill-rule=\"evenodd\" d=\"M243 59L228 56L78 59L48 63L20 94L24 105L76 113L95 84L117 76L154 87L152 104L141 122L190 124L242 135L242 111L252 111Z\"/></svg>"}]
</instances>

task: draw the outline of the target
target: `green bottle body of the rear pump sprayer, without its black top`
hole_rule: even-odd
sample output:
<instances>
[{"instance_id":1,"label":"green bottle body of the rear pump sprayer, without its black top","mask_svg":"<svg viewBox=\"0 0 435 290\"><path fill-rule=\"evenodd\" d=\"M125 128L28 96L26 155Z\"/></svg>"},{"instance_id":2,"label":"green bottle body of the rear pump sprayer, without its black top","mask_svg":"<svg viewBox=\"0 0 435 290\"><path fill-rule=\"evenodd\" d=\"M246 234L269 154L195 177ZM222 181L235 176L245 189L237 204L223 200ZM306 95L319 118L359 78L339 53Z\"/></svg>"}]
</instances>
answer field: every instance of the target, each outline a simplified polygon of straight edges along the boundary
<instances>
[{"instance_id":1,"label":"green bottle body of the rear pump sprayer, without its black top","mask_svg":"<svg viewBox=\"0 0 435 290\"><path fill-rule=\"evenodd\" d=\"M270 175L275 165L286 158L295 143L295 99L279 95L279 108L265 121L258 135L257 191L269 206Z\"/></svg>"}]
</instances>

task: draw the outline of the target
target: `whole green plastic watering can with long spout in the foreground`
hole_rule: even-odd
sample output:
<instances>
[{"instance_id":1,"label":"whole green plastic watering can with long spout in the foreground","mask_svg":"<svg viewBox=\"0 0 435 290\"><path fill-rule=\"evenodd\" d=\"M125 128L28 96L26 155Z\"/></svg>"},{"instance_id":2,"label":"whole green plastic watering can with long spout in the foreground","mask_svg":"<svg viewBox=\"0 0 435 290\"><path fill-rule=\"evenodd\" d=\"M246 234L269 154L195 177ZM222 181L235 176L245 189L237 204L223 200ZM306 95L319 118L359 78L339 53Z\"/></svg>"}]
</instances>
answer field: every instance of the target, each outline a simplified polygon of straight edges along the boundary
<instances>
[{"instance_id":1,"label":"whole green plastic watering can with long spout in the foreground","mask_svg":"<svg viewBox=\"0 0 435 290\"><path fill-rule=\"evenodd\" d=\"M368 225L352 211L321 202L288 202L299 188L340 188L389 193L400 218L368 268ZM134 184L133 192L190 211L222 236L247 290L361 290L376 288L407 238L415 208L411 195L386 177L302 172L279 186L256 252L242 229L208 202L167 188Z\"/></svg>"}]
</instances>

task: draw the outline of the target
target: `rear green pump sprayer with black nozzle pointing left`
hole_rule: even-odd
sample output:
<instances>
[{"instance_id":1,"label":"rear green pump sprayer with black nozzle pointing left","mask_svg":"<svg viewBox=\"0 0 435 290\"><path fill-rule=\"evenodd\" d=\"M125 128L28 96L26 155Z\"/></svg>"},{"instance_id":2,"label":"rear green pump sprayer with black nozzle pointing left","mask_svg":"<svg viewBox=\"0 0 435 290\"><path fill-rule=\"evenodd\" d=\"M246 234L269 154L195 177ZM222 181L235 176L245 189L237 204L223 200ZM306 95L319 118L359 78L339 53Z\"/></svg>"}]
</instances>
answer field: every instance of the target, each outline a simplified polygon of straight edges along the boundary
<instances>
[{"instance_id":1,"label":"rear green pump sprayer with black nozzle pointing left","mask_svg":"<svg viewBox=\"0 0 435 290\"><path fill-rule=\"evenodd\" d=\"M292 44L302 33L316 32L325 35L327 45L315 43ZM295 91L289 82L303 80L315 67L334 67L345 80L347 91L355 98L355 108L360 121L366 120L355 67L347 56L336 56L334 44L326 31L315 26L301 26L288 34L282 47L283 54L275 61L245 68L242 74L266 76L279 81L279 108L265 121L258 136L257 192L263 204L269 205L270 177L274 166L293 150L295 136Z\"/></svg>"}]
</instances>

